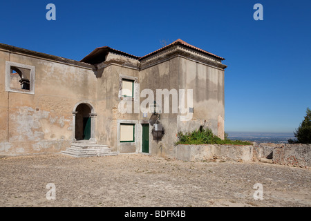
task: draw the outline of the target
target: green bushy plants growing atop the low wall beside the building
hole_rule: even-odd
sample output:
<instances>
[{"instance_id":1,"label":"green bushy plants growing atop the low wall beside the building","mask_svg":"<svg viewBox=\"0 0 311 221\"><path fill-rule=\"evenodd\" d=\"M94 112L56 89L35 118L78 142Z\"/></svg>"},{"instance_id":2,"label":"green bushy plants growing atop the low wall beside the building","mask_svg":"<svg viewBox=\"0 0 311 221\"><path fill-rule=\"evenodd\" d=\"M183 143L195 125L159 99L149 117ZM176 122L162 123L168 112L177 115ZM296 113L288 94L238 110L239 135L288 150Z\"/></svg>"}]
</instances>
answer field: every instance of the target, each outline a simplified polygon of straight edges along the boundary
<instances>
[{"instance_id":1,"label":"green bushy plants growing atop the low wall beside the building","mask_svg":"<svg viewBox=\"0 0 311 221\"><path fill-rule=\"evenodd\" d=\"M192 132L182 133L178 132L178 142L176 144L236 144L236 145L251 145L250 142L243 142L241 140L229 140L227 139L227 133L225 133L225 139L221 140L219 137L211 132L209 128L203 128L200 126L198 130Z\"/></svg>"}]
</instances>

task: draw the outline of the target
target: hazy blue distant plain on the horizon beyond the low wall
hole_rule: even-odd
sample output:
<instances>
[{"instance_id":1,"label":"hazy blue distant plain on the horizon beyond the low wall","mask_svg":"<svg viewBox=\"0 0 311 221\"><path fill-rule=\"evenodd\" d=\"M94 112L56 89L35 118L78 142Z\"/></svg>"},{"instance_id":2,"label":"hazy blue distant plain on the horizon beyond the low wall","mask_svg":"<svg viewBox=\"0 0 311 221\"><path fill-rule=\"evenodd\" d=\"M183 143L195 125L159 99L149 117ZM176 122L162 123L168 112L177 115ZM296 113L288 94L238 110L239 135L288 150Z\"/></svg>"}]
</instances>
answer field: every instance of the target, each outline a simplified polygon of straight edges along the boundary
<instances>
[{"instance_id":1,"label":"hazy blue distant plain on the horizon beyond the low wall","mask_svg":"<svg viewBox=\"0 0 311 221\"><path fill-rule=\"evenodd\" d=\"M227 132L230 140L242 140L257 143L285 144L288 139L295 139L294 133L257 133L257 132Z\"/></svg>"}]
</instances>

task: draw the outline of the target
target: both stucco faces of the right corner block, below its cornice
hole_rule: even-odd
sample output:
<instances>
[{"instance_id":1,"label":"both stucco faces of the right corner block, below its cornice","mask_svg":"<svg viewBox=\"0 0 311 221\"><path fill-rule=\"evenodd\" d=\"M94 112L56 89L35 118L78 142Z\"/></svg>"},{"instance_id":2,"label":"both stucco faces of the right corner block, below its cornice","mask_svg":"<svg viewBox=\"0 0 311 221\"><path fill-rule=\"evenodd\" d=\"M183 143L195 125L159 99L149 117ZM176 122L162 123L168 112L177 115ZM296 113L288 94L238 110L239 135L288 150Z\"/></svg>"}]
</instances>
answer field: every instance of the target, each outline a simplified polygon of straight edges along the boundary
<instances>
[{"instance_id":1,"label":"both stucco faces of the right corner block, below its cornice","mask_svg":"<svg viewBox=\"0 0 311 221\"><path fill-rule=\"evenodd\" d=\"M144 68L147 66L147 68ZM185 90L185 108L187 114L172 113L173 99L169 98L169 112L162 114L160 122L164 126L165 135L158 144L151 142L151 153L156 155L171 155L173 145L177 141L178 131L193 131L201 125L211 128L214 134L223 138L224 134L224 70L211 65L203 64L172 53L160 59L151 58L142 61L140 71L140 91L144 88L153 90L156 97L156 89L176 89L178 92L178 106L180 106L179 90ZM193 92L193 104L190 105L187 94L189 89ZM174 100L175 102L175 100ZM164 99L162 99L162 107ZM194 108L194 113L189 113L189 108ZM190 120L181 120L187 115ZM148 119L151 114L148 115ZM186 119L187 119L186 117ZM151 136L152 139L152 136Z\"/></svg>"}]
</instances>

